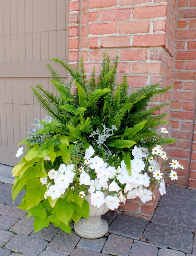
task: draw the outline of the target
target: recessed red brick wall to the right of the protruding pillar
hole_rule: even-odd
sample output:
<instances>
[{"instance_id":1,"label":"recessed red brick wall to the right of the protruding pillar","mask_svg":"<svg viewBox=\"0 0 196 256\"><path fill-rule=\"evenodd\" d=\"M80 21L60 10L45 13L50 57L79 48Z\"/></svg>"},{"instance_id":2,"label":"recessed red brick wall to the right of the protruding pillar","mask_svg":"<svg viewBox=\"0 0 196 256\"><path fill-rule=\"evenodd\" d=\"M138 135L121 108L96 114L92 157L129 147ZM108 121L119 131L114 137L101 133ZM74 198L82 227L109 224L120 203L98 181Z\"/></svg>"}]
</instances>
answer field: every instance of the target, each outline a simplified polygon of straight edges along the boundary
<instances>
[{"instance_id":1,"label":"recessed red brick wall to the right of the protruding pillar","mask_svg":"<svg viewBox=\"0 0 196 256\"><path fill-rule=\"evenodd\" d=\"M170 130L178 142L170 147L168 154L176 157L184 169L175 182L196 188L196 1L179 0L176 27L175 69L173 76Z\"/></svg>"}]
</instances>

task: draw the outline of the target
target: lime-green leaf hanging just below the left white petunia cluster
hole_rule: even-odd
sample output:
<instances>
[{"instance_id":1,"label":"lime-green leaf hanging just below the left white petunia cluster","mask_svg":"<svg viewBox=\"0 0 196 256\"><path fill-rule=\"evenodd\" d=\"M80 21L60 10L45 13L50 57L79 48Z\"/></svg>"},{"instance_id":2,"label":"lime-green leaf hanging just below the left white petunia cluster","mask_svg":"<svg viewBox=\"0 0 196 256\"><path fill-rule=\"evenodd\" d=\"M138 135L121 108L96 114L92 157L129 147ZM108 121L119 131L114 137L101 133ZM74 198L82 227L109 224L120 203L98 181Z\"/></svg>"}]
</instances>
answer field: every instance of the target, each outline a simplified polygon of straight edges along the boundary
<instances>
[{"instance_id":1,"label":"lime-green leaf hanging just below the left white petunia cluster","mask_svg":"<svg viewBox=\"0 0 196 256\"><path fill-rule=\"evenodd\" d=\"M71 208L70 204L62 198L59 198L55 204L56 217L63 222L65 225L68 224L71 216L74 213L74 209Z\"/></svg>"}]
</instances>

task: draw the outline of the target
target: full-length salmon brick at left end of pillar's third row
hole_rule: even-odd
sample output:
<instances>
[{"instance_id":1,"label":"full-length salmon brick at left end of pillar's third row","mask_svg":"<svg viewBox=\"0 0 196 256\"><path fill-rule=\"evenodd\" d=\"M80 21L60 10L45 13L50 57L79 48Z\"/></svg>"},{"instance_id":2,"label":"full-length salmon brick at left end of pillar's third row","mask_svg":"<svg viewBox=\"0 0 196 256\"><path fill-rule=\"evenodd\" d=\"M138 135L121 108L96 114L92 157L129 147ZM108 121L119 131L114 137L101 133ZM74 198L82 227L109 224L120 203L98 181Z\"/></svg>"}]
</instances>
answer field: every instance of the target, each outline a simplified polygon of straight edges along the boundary
<instances>
[{"instance_id":1,"label":"full-length salmon brick at left end of pillar's third row","mask_svg":"<svg viewBox=\"0 0 196 256\"><path fill-rule=\"evenodd\" d=\"M89 24L88 31L92 35L114 34L117 32L117 23Z\"/></svg>"}]
</instances>

